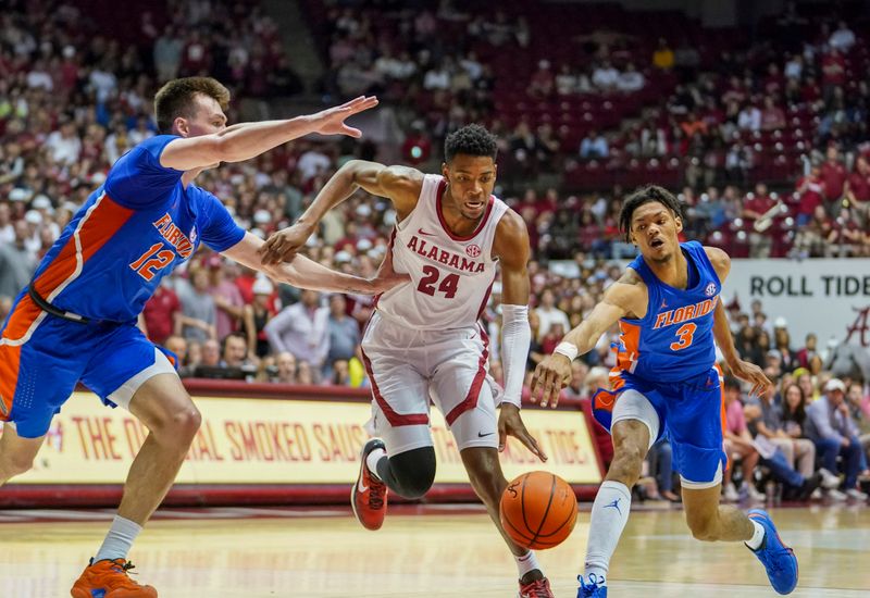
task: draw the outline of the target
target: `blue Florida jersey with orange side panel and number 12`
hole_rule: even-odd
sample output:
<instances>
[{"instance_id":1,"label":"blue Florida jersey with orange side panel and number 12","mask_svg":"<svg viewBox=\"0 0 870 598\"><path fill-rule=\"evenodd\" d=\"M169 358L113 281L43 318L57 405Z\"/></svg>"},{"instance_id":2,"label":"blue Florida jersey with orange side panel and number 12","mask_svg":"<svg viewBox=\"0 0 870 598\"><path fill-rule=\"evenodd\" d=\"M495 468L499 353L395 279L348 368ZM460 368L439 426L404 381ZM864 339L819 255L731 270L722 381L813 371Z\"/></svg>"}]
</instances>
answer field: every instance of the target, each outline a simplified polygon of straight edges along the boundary
<instances>
[{"instance_id":1,"label":"blue Florida jersey with orange side panel and number 12","mask_svg":"<svg viewBox=\"0 0 870 598\"><path fill-rule=\"evenodd\" d=\"M151 137L115 162L39 264L39 295L92 320L128 322L200 242L224 251L241 240L216 197L160 164L175 138Z\"/></svg>"}]
</instances>

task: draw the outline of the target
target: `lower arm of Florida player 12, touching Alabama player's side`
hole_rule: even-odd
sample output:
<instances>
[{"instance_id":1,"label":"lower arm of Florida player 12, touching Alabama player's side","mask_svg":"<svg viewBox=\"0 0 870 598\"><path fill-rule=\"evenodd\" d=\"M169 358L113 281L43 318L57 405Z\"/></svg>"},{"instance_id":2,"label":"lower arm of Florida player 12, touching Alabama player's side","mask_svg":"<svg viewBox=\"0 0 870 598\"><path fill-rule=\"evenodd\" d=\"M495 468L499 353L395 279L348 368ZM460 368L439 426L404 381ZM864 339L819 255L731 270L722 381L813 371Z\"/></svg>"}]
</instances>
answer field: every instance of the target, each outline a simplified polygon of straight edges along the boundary
<instances>
[{"instance_id":1,"label":"lower arm of Florida player 12, touching Alabama player's side","mask_svg":"<svg viewBox=\"0 0 870 598\"><path fill-rule=\"evenodd\" d=\"M260 263L260 256L258 254L258 250L262 245L263 240L261 238L251 233L246 233L239 242L223 251L223 254L250 269L260 271L279 283L325 292L377 295L411 279L407 274L398 274L393 270L390 251L387 251L381 267L373 278L361 278L330 270L304 256L296 256L293 262L263 265Z\"/></svg>"}]
</instances>

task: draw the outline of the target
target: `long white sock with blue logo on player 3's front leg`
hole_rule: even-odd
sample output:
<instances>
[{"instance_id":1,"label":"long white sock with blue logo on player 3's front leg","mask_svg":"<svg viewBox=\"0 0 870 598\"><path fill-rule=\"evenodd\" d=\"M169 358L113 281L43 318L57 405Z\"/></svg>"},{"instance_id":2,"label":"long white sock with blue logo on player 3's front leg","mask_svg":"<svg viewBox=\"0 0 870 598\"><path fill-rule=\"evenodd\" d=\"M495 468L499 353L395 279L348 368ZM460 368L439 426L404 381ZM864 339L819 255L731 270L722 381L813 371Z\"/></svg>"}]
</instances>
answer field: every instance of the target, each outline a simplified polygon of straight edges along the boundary
<instances>
[{"instance_id":1,"label":"long white sock with blue logo on player 3's front leg","mask_svg":"<svg viewBox=\"0 0 870 598\"><path fill-rule=\"evenodd\" d=\"M610 558L629 521L631 507L632 493L625 484L611 481L601 484L592 506L585 562L586 576L595 574L599 585L606 584Z\"/></svg>"}]
</instances>

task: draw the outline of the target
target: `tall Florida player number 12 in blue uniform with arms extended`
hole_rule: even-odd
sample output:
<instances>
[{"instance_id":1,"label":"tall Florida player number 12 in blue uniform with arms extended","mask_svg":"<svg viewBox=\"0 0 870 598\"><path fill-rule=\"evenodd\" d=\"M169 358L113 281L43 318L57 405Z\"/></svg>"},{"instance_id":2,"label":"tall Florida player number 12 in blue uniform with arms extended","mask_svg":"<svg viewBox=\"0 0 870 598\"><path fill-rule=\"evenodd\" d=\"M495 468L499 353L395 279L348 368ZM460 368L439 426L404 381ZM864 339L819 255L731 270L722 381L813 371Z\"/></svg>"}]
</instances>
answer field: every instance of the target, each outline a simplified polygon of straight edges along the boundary
<instances>
[{"instance_id":1,"label":"tall Florida player number 12 in blue uniform with arms extended","mask_svg":"<svg viewBox=\"0 0 870 598\"><path fill-rule=\"evenodd\" d=\"M286 121L226 126L229 92L190 77L158 91L163 135L124 154L70 222L16 298L0 338L0 484L30 469L51 419L78 382L105 404L128 409L150 431L124 486L117 516L71 594L75 598L153 598L133 582L134 539L175 479L200 414L171 363L136 327L160 281L200 244L270 277L311 289L388 290L405 277L390 262L372 281L297 256L263 266L263 241L239 228L212 194L192 184L203 169L239 162L319 133L359 137L345 120L376 105L358 98ZM176 364L177 365L177 364Z\"/></svg>"}]
</instances>

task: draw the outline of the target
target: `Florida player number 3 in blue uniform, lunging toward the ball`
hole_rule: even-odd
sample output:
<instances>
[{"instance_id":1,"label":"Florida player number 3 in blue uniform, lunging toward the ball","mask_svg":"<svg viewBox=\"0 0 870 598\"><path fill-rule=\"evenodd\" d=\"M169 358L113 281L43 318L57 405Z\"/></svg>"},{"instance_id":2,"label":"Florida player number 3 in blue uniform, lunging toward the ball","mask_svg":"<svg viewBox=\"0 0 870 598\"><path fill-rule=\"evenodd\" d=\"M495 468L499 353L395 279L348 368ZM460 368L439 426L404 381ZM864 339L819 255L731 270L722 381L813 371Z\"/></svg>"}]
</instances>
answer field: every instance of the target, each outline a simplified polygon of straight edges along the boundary
<instances>
[{"instance_id":1,"label":"Florida player number 3 in blue uniform, lunging toward the ball","mask_svg":"<svg viewBox=\"0 0 870 598\"><path fill-rule=\"evenodd\" d=\"M607 596L610 558L629 519L631 487L649 447L668 436L680 472L692 535L706 541L744 541L780 594L797 585L797 559L761 510L720 506L724 418L716 345L734 375L754 394L772 390L759 367L742 361L720 300L731 260L721 249L679 242L683 228L676 198L657 186L626 198L620 214L626 239L641 256L605 291L604 299L535 370L533 398L556 404L571 379L571 362L595 347L619 322L611 390L593 398L596 419L610 431L613 461L592 509L585 576L577 598Z\"/></svg>"}]
</instances>

